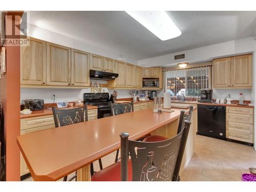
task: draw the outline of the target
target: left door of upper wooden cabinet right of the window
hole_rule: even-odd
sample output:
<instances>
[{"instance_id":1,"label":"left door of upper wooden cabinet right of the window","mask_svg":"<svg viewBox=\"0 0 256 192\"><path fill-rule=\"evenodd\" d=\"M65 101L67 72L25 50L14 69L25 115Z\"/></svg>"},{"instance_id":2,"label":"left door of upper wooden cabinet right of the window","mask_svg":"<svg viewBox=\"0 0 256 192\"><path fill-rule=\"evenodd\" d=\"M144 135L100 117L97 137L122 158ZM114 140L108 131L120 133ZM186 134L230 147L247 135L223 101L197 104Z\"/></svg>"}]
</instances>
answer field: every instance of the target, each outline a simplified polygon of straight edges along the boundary
<instances>
[{"instance_id":1,"label":"left door of upper wooden cabinet right of the window","mask_svg":"<svg viewBox=\"0 0 256 192\"><path fill-rule=\"evenodd\" d=\"M231 57L214 59L213 80L214 87L230 87Z\"/></svg>"}]
</instances>

